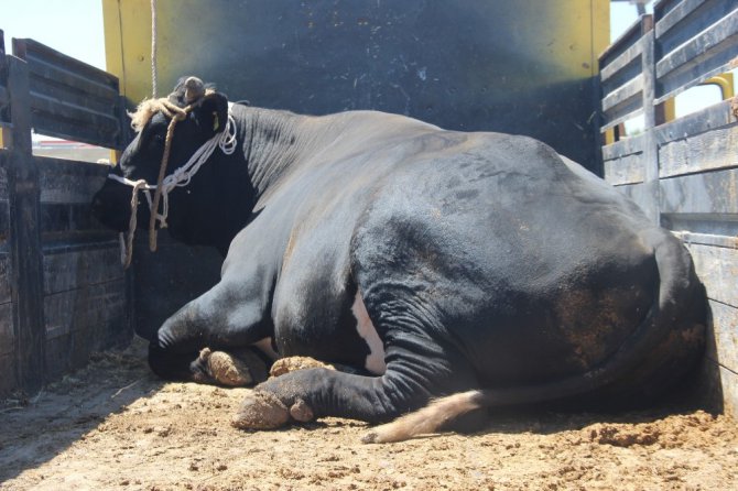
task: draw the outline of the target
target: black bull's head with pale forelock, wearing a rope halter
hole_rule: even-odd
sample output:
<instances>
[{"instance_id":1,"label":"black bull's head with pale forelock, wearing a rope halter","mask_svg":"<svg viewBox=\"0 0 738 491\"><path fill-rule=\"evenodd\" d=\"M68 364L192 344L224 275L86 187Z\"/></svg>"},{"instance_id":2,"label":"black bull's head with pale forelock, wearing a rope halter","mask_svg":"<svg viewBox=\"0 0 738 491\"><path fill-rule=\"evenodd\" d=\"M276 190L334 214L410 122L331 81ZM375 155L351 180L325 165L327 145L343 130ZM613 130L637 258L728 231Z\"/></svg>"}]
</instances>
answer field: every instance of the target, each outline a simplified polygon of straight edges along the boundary
<instances>
[{"instance_id":1,"label":"black bull's head with pale forelock, wearing a rope halter","mask_svg":"<svg viewBox=\"0 0 738 491\"><path fill-rule=\"evenodd\" d=\"M110 178L95 195L94 214L104 225L124 232L133 223L131 215L135 212L137 228L145 229L151 223L153 229L166 223L175 238L188 241L191 227L187 221L194 208L202 205L188 198L192 188L174 190L182 184L172 186L171 176L192 162L193 155L204 145L223 135L228 127L228 100L221 94L206 89L200 79L188 77L181 79L169 97L144 100L130 116L135 138L123 151ZM173 120L176 121L173 123ZM206 167L200 171L204 176L210 172ZM170 176L169 181L162 183L163 176ZM197 181L200 182L197 187L204 187L207 178L198 176ZM192 185L196 186L195 182ZM164 190L164 199L161 205L155 204L159 219L154 217L152 220L151 197L156 194L156 187ZM166 216L169 190L173 192L172 212ZM210 193L217 193L217 189ZM202 195L202 192L197 194L200 198ZM132 198L141 206L132 206Z\"/></svg>"}]
</instances>

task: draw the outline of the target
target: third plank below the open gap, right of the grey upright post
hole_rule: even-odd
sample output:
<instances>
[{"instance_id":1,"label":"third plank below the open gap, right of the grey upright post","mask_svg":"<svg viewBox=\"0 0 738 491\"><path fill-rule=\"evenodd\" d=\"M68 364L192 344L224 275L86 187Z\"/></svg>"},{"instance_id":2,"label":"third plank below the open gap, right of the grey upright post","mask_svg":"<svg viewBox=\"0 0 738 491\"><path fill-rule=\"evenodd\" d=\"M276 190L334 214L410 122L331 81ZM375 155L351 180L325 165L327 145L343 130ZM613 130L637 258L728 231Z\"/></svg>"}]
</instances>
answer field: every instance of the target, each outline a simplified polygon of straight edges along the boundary
<instances>
[{"instance_id":1,"label":"third plank below the open gap, right of the grey upright post","mask_svg":"<svg viewBox=\"0 0 738 491\"><path fill-rule=\"evenodd\" d=\"M665 214L738 214L738 170L661 179Z\"/></svg>"}]
</instances>

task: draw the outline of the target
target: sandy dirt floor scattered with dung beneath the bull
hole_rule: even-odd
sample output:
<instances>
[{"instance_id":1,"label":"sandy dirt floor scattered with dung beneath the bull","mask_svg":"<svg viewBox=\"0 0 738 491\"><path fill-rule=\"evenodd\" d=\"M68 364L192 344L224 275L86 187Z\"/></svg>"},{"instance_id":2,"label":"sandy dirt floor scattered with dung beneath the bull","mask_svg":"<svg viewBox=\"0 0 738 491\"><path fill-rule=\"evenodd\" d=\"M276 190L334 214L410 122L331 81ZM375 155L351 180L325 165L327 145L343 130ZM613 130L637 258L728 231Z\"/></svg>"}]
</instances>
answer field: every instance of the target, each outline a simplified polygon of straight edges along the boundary
<instances>
[{"instance_id":1,"label":"sandy dirt floor scattered with dung beneath the bull","mask_svg":"<svg viewBox=\"0 0 738 491\"><path fill-rule=\"evenodd\" d=\"M362 445L328 418L230 426L246 389L163 383L140 346L0 405L2 490L735 490L738 428L702 411L490 416L474 435Z\"/></svg>"}]
</instances>

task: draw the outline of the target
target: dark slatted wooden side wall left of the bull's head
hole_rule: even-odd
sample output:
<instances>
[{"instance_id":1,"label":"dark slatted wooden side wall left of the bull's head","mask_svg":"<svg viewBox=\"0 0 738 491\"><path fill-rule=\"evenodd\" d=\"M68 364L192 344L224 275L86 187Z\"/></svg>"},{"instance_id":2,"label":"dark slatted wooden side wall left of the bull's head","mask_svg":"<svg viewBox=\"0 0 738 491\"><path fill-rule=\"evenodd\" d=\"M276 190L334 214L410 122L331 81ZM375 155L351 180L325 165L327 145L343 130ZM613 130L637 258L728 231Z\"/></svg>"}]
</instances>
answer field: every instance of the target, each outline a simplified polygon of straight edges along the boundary
<instances>
[{"instance_id":1,"label":"dark slatted wooden side wall left of the bull's head","mask_svg":"<svg viewBox=\"0 0 738 491\"><path fill-rule=\"evenodd\" d=\"M0 31L0 395L31 394L132 335L115 233L90 215L106 165L32 155L31 131L127 140L118 79Z\"/></svg>"}]
</instances>

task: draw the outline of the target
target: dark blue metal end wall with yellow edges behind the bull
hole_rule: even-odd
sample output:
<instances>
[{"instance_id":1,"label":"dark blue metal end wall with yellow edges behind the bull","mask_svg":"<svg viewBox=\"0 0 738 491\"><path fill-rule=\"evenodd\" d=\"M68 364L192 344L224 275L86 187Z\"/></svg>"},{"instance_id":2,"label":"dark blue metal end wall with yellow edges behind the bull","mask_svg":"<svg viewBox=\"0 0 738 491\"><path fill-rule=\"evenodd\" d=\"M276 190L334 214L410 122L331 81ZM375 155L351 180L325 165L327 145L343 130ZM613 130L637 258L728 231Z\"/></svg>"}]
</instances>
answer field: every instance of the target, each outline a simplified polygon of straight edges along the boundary
<instances>
[{"instance_id":1,"label":"dark blue metal end wall with yellow edges behind the bull","mask_svg":"<svg viewBox=\"0 0 738 491\"><path fill-rule=\"evenodd\" d=\"M597 54L609 37L609 0L102 7L108 69L129 103L154 91L153 58L160 97L180 77L197 75L260 107L312 114L376 109L447 129L528 134L599 172ZM192 261L183 248L160 249L138 247L133 264L137 331L144 337L208 283L193 277L207 268L182 274ZM219 258L199 250L197 261Z\"/></svg>"}]
</instances>

